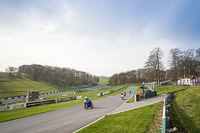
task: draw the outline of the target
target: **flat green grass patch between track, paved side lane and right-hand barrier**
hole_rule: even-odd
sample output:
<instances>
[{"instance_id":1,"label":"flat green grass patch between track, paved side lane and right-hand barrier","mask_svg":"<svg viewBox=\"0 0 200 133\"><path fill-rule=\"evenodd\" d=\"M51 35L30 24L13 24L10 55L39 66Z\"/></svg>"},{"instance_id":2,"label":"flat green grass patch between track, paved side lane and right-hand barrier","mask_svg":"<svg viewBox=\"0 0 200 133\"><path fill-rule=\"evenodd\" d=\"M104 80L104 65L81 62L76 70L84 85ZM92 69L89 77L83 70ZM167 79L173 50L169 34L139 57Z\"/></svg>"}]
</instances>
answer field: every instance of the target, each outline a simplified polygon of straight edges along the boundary
<instances>
[{"instance_id":1,"label":"flat green grass patch between track, paved side lane and right-hand barrier","mask_svg":"<svg viewBox=\"0 0 200 133\"><path fill-rule=\"evenodd\" d=\"M162 102L106 116L80 133L146 133Z\"/></svg>"}]
</instances>

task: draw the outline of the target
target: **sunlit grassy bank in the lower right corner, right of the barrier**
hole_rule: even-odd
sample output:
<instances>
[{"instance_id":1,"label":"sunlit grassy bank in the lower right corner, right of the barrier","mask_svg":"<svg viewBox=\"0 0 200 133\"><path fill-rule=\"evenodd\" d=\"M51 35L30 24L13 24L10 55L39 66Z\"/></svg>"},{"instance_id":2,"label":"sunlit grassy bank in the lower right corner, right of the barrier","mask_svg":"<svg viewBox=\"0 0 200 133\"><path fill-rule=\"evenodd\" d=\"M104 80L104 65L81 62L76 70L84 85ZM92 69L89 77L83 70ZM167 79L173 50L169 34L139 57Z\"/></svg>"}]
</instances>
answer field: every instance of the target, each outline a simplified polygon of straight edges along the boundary
<instances>
[{"instance_id":1,"label":"sunlit grassy bank in the lower right corner, right of the barrier","mask_svg":"<svg viewBox=\"0 0 200 133\"><path fill-rule=\"evenodd\" d=\"M189 87L174 94L170 106L172 126L179 132L200 132L200 87Z\"/></svg>"}]
</instances>

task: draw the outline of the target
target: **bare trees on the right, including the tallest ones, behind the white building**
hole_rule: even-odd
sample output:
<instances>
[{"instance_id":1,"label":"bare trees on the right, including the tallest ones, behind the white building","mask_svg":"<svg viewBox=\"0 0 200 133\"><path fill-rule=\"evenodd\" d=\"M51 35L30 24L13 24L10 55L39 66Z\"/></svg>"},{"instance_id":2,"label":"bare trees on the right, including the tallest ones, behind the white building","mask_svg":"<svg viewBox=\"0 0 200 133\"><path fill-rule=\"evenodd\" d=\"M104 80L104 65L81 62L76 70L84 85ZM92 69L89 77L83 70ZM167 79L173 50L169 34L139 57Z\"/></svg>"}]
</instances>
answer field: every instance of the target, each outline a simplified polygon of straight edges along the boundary
<instances>
[{"instance_id":1,"label":"bare trees on the right, including the tallest ones, behind the white building","mask_svg":"<svg viewBox=\"0 0 200 133\"><path fill-rule=\"evenodd\" d=\"M165 70L162 59L163 51L155 48L150 52L144 68L114 74L110 77L109 84L157 82L159 85L164 80L176 82L179 78L200 76L200 48L185 51L171 49L168 70Z\"/></svg>"}]
</instances>

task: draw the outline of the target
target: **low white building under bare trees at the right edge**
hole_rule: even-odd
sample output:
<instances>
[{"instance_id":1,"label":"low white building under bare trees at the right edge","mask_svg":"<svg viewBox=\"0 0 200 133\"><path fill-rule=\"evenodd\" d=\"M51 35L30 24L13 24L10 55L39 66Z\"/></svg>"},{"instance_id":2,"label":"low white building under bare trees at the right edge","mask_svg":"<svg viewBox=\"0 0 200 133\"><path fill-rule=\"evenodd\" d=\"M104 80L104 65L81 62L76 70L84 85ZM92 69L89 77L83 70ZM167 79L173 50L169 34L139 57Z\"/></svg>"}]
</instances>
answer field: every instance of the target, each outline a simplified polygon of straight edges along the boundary
<instances>
[{"instance_id":1,"label":"low white building under bare trees at the right edge","mask_svg":"<svg viewBox=\"0 0 200 133\"><path fill-rule=\"evenodd\" d=\"M190 79L190 78L183 78L177 81L177 84L180 86L197 86L200 85L200 78L197 79Z\"/></svg>"}]
</instances>

